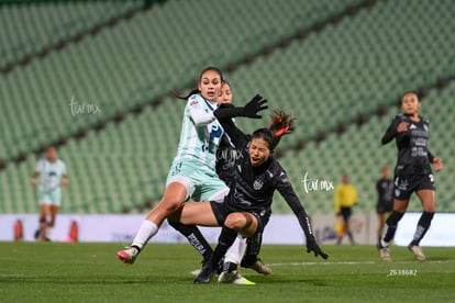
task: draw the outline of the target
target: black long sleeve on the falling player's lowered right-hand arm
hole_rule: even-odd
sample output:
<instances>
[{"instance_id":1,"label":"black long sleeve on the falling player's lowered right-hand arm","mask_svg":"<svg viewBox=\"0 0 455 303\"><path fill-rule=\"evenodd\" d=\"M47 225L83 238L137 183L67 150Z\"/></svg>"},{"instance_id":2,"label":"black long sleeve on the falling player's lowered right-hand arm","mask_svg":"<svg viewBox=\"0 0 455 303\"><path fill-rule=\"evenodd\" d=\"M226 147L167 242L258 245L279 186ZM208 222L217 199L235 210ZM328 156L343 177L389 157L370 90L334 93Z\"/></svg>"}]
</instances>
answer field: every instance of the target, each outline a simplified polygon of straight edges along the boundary
<instances>
[{"instance_id":1,"label":"black long sleeve on the falling player's lowered right-hand arm","mask_svg":"<svg viewBox=\"0 0 455 303\"><path fill-rule=\"evenodd\" d=\"M307 239L314 238L313 228L311 227L310 217L307 214L303 205L300 203L300 199L297 197L292 184L289 182L286 172L284 171L276 186L278 192L282 195L286 203L292 210L297 216L300 227L303 229L304 236Z\"/></svg>"}]
</instances>

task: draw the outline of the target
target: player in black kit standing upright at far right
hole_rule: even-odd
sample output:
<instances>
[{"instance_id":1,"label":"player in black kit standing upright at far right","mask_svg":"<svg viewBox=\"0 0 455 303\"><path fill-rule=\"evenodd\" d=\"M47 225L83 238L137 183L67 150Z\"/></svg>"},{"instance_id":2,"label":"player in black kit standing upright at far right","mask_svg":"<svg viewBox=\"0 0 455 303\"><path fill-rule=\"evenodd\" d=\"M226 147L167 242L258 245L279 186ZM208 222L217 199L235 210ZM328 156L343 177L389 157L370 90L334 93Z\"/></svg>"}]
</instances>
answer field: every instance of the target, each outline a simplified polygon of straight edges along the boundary
<instances>
[{"instance_id":1,"label":"player in black kit standing upright at far right","mask_svg":"<svg viewBox=\"0 0 455 303\"><path fill-rule=\"evenodd\" d=\"M434 157L428 149L430 123L419 115L420 106L417 93L404 93L401 99L403 113L393 119L381 139L382 144L388 144L395 138L398 147L393 212L387 218L384 237L378 243L380 258L384 261L390 261L389 242L393 239L398 222L404 215L412 192L419 197L423 213L408 248L418 260L425 260L419 244L429 229L436 209L431 164L436 171L443 168L443 164L441 158Z\"/></svg>"}]
</instances>

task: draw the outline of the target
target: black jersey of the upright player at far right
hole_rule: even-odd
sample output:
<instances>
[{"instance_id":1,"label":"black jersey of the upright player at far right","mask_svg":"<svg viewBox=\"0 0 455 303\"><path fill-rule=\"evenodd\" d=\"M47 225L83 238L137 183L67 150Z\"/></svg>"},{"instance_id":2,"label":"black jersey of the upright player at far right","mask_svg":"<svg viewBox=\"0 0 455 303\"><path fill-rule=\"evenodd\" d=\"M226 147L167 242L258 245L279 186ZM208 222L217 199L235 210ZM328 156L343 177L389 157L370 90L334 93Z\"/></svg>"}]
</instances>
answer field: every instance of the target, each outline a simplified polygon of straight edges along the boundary
<instances>
[{"instance_id":1,"label":"black jersey of the upright player at far right","mask_svg":"<svg viewBox=\"0 0 455 303\"><path fill-rule=\"evenodd\" d=\"M412 121L406 114L397 115L386 133L381 143L388 144L393 138L398 148L398 160L395 175L428 175L431 173L433 155L428 149L430 122L421 116L419 122ZM407 122L408 131L398 133L397 127L401 122Z\"/></svg>"}]
</instances>

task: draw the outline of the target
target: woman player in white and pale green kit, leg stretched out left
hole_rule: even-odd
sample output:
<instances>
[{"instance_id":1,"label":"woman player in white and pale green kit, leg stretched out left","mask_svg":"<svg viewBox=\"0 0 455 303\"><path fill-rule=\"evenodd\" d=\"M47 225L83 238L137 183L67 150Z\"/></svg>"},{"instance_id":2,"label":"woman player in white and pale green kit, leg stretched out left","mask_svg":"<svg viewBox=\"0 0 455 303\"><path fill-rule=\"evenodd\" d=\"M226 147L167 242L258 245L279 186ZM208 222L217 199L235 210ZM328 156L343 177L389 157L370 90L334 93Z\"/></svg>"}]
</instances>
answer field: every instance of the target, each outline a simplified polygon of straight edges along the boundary
<instances>
[{"instance_id":1,"label":"woman player in white and pale green kit, leg stretched out left","mask_svg":"<svg viewBox=\"0 0 455 303\"><path fill-rule=\"evenodd\" d=\"M166 191L142 223L132 245L116 254L118 259L132 265L146 243L158 232L166 217L190 198L195 201L220 200L229 188L215 172L215 150L223 128L213 115L223 83L215 67L202 70L198 89L188 96L181 123L180 141L166 181ZM213 250L196 226L179 231L209 260Z\"/></svg>"}]
</instances>

